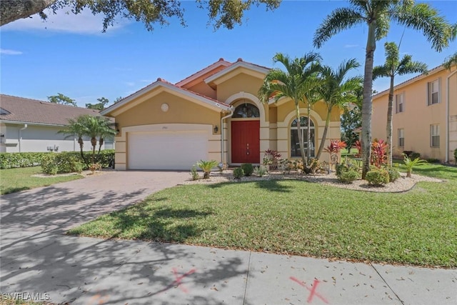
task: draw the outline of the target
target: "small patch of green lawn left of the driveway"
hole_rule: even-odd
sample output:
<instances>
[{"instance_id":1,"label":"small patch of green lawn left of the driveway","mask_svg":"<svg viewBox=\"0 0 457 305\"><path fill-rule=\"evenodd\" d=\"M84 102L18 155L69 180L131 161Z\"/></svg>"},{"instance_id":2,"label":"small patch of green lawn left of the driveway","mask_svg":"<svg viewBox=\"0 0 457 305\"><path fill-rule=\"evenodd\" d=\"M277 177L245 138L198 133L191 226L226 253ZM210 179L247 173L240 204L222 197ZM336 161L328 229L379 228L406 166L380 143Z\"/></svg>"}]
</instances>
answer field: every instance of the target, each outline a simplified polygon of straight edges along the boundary
<instances>
[{"instance_id":1,"label":"small patch of green lawn left of the driveway","mask_svg":"<svg viewBox=\"0 0 457 305\"><path fill-rule=\"evenodd\" d=\"M34 189L39 186L49 186L59 182L66 182L82 178L81 175L55 176L49 178L32 177L41 174L41 167L23 167L19 169L0 170L0 194L9 194L24 189Z\"/></svg>"}]
</instances>

